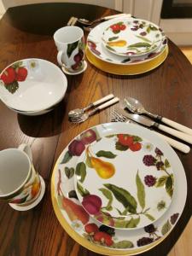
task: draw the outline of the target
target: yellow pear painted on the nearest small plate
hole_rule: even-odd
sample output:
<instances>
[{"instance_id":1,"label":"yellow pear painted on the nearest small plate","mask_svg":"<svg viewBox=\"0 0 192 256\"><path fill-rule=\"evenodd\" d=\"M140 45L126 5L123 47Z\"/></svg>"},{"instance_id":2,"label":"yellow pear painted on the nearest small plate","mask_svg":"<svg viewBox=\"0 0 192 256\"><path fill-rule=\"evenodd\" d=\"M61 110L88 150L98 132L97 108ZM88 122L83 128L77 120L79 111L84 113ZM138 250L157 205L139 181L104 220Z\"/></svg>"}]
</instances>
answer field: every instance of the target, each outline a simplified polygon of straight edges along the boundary
<instances>
[{"instance_id":1,"label":"yellow pear painted on the nearest small plate","mask_svg":"<svg viewBox=\"0 0 192 256\"><path fill-rule=\"evenodd\" d=\"M113 164L105 162L93 156L90 158L90 161L91 161L91 165L96 170L96 173L99 175L99 177L102 177L105 179L113 177L115 172L115 168Z\"/></svg>"}]
</instances>

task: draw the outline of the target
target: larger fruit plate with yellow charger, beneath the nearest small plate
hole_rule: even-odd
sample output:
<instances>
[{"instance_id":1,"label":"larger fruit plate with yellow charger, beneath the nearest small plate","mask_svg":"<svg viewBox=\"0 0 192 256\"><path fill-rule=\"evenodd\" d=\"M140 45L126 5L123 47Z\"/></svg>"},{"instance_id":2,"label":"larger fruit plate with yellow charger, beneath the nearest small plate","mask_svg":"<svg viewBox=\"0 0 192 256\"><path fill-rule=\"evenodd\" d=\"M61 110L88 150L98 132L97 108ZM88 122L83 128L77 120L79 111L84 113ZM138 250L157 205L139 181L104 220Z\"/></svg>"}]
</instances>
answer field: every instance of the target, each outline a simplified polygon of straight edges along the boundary
<instances>
[{"instance_id":1,"label":"larger fruit plate with yellow charger, beneath the nearest small plate","mask_svg":"<svg viewBox=\"0 0 192 256\"><path fill-rule=\"evenodd\" d=\"M174 194L172 204L154 224L134 230L119 230L101 224L92 218L80 204L74 187L74 173L79 173L79 156L86 147L100 137L109 137L114 134L137 134L148 141L153 141L159 148L174 172ZM146 147L146 154L154 156L154 149ZM127 149L130 150L130 149ZM128 153L128 151L125 151ZM150 166L146 166L150 168ZM147 169L148 170L148 169ZM96 172L94 170L91 170ZM157 171L156 172L163 172ZM166 176L166 175L165 175ZM156 180L156 183L159 179ZM152 184L152 179L149 182ZM156 184L155 183L155 184ZM154 184L154 185L155 185ZM153 186L151 186L153 189ZM153 131L124 123L109 123L96 125L79 134L64 148L51 178L51 198L56 217L69 236L82 246L101 253L102 255L133 255L143 253L155 247L171 232L183 212L187 195L187 182L183 166L174 150Z\"/></svg>"}]
</instances>

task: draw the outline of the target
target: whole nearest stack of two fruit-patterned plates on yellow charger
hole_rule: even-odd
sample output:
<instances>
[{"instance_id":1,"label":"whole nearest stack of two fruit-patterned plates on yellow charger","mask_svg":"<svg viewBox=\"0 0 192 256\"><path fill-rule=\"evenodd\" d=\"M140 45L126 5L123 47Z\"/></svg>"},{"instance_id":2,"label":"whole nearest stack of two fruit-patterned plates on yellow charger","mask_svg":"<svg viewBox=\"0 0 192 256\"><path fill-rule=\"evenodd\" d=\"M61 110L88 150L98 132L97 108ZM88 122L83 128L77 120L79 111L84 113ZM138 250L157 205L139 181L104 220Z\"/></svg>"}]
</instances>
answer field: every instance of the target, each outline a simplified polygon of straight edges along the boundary
<instances>
[{"instance_id":1,"label":"whole nearest stack of two fruit-patterned plates on yellow charger","mask_svg":"<svg viewBox=\"0 0 192 256\"><path fill-rule=\"evenodd\" d=\"M160 137L137 125L108 123L84 131L63 150L51 195L75 241L96 253L133 255L174 228L187 183L177 154Z\"/></svg>"}]
</instances>

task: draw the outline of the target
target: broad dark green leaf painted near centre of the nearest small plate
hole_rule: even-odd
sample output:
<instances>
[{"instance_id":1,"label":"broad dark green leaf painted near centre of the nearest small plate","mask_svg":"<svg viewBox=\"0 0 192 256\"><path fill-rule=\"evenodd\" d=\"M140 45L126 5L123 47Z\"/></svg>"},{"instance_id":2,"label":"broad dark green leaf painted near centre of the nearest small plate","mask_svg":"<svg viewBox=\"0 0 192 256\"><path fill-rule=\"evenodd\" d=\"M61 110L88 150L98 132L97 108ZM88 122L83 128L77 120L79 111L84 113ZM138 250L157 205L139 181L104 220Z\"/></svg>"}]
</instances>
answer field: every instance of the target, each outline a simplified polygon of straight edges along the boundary
<instances>
[{"instance_id":1,"label":"broad dark green leaf painted near centre of the nearest small plate","mask_svg":"<svg viewBox=\"0 0 192 256\"><path fill-rule=\"evenodd\" d=\"M137 201L135 198L125 189L119 188L110 183L103 184L107 189L111 190L114 197L131 213L136 213L137 211Z\"/></svg>"}]
</instances>

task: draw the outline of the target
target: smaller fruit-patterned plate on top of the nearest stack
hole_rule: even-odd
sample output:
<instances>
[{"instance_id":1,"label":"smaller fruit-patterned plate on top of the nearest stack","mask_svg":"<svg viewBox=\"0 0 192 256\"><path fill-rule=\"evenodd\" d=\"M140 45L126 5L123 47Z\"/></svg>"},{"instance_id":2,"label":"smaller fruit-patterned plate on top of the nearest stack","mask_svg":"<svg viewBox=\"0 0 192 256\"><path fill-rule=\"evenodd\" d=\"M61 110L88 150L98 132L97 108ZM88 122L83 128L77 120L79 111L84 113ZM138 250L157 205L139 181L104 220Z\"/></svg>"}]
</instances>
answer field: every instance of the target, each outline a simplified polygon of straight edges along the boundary
<instances>
[{"instance_id":1,"label":"smaller fruit-patterned plate on top of the nearest stack","mask_svg":"<svg viewBox=\"0 0 192 256\"><path fill-rule=\"evenodd\" d=\"M74 185L92 218L133 230L154 223L170 207L173 174L167 155L153 138L142 132L118 132L85 143Z\"/></svg>"}]
</instances>

